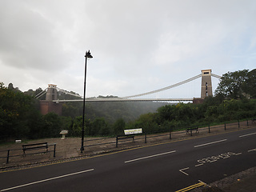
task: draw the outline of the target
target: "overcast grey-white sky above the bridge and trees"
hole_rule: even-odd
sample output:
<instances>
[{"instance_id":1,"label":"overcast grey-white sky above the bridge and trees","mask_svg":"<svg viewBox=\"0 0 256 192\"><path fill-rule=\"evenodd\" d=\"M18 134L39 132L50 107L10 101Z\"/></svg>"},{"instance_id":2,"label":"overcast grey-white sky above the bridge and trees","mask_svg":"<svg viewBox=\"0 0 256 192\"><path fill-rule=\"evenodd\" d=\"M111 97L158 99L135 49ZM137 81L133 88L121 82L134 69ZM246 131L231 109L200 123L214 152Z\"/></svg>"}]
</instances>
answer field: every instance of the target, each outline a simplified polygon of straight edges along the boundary
<instances>
[{"instance_id":1,"label":"overcast grey-white sky above the bridge and trees","mask_svg":"<svg viewBox=\"0 0 256 192\"><path fill-rule=\"evenodd\" d=\"M1 0L0 82L86 97L141 94L256 68L254 0ZM217 78L212 78L214 89ZM201 79L146 98L200 97Z\"/></svg>"}]
</instances>

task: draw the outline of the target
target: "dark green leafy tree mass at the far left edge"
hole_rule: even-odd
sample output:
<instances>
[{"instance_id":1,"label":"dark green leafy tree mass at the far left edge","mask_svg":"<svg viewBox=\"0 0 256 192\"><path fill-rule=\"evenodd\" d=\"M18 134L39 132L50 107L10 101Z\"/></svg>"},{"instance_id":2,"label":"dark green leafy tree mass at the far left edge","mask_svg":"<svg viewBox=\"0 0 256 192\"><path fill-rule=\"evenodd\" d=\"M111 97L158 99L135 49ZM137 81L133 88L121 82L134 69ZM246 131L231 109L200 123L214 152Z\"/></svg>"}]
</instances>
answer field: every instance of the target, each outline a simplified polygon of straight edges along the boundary
<instances>
[{"instance_id":1,"label":"dark green leafy tree mass at the far left edge","mask_svg":"<svg viewBox=\"0 0 256 192\"><path fill-rule=\"evenodd\" d=\"M11 87L11 86L10 86ZM30 138L38 133L41 115L36 100L16 89L0 86L0 135L5 138Z\"/></svg>"}]
</instances>

